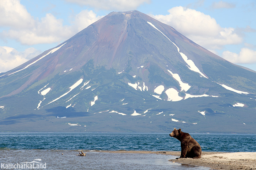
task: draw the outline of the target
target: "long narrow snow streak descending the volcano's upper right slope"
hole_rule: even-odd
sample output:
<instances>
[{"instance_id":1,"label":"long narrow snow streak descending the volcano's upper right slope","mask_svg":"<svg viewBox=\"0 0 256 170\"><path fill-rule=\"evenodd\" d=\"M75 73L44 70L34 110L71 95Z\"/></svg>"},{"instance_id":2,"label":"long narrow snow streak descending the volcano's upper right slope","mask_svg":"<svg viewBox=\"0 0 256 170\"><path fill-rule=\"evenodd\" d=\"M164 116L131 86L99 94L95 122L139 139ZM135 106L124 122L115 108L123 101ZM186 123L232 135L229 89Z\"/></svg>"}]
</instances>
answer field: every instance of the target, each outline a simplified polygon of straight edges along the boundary
<instances>
[{"instance_id":1,"label":"long narrow snow streak descending the volcano's upper right slope","mask_svg":"<svg viewBox=\"0 0 256 170\"><path fill-rule=\"evenodd\" d=\"M153 28L155 28L155 29L157 29L159 32L161 32L157 27L155 27L155 25L153 25L152 23L150 23L150 22L148 22L147 21L147 23L148 24L150 24ZM162 32L161 32L162 33ZM162 33L169 41L171 41L164 33ZM171 41L172 43L173 43L173 41ZM177 50L178 50L178 52L180 53L180 55L181 55L181 57L182 57L182 59L188 64L188 68L190 69L190 70L192 70L192 71L195 71L195 72L198 72L200 75L202 75L204 78L207 78L197 67L196 67L196 65L195 65L195 63L192 61L192 60L190 60L190 59L188 59L188 57L184 54L184 53L182 53L182 52L180 52L180 48L178 48L178 46L175 44L175 43L173 43L174 44L174 46L176 46L177 47ZM208 79L208 78L207 78Z\"/></svg>"}]
</instances>

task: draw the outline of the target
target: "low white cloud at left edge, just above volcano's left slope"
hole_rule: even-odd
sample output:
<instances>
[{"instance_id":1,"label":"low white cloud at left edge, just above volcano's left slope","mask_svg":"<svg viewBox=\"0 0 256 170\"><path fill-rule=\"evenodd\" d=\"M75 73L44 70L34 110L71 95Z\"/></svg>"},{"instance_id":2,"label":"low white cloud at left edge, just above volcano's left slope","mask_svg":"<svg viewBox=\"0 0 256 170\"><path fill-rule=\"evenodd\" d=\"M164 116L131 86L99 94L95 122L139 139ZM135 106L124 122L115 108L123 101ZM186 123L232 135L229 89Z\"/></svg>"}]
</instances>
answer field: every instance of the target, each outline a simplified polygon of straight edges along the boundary
<instances>
[{"instance_id":1,"label":"low white cloud at left edge, just above volcano's left slope","mask_svg":"<svg viewBox=\"0 0 256 170\"><path fill-rule=\"evenodd\" d=\"M0 72L9 71L39 54L41 51L35 48L27 48L23 52L18 52L14 48L0 46Z\"/></svg>"}]
</instances>

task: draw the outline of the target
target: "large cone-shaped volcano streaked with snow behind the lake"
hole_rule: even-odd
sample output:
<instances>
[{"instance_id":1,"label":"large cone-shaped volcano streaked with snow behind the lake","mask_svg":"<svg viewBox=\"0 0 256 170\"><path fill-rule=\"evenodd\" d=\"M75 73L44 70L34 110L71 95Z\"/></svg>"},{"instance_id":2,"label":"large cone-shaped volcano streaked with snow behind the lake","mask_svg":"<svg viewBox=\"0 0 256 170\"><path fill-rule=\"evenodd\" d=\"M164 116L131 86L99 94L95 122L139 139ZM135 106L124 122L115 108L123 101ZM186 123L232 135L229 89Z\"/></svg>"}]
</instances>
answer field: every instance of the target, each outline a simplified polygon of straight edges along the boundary
<instances>
[{"instance_id":1,"label":"large cone-shaped volcano streaked with snow behind the lake","mask_svg":"<svg viewBox=\"0 0 256 170\"><path fill-rule=\"evenodd\" d=\"M0 74L2 132L256 133L256 73L139 11Z\"/></svg>"}]
</instances>

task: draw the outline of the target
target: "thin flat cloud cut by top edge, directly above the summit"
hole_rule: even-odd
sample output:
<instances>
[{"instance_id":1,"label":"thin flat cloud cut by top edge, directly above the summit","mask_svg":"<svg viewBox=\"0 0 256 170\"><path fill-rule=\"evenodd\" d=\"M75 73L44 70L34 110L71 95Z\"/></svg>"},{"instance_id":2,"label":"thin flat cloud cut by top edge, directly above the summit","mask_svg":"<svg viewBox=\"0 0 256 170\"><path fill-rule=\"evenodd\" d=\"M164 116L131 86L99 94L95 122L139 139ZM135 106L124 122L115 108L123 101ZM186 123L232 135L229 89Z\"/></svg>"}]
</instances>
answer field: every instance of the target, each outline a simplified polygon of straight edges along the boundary
<instances>
[{"instance_id":1,"label":"thin flat cloud cut by top edge, directly above the summit","mask_svg":"<svg viewBox=\"0 0 256 170\"><path fill-rule=\"evenodd\" d=\"M143 3L150 3L150 0L66 0L67 2L79 5L88 5L97 9L128 11L139 7Z\"/></svg>"}]
</instances>

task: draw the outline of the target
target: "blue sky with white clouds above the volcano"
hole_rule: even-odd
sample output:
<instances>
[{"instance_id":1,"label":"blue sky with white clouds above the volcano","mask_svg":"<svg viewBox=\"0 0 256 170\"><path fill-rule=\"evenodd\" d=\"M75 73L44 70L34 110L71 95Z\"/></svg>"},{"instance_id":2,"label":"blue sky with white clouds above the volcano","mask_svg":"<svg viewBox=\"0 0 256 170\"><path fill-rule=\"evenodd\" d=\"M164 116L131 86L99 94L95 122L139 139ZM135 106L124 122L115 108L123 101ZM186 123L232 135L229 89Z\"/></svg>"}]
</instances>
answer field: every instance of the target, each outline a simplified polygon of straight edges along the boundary
<instances>
[{"instance_id":1,"label":"blue sky with white clouds above the volcano","mask_svg":"<svg viewBox=\"0 0 256 170\"><path fill-rule=\"evenodd\" d=\"M112 11L134 9L256 71L255 0L1 0L0 72L57 46Z\"/></svg>"}]
</instances>

